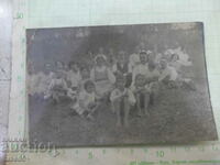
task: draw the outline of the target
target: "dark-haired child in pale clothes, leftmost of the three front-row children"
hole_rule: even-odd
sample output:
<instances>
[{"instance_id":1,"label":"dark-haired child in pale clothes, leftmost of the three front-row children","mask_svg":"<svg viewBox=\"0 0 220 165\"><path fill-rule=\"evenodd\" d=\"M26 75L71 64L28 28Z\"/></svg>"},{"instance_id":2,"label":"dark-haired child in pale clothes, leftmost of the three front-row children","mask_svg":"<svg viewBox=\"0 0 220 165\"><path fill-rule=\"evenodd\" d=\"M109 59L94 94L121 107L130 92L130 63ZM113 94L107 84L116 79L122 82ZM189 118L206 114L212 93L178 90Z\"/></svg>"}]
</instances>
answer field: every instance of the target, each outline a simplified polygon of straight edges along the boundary
<instances>
[{"instance_id":1,"label":"dark-haired child in pale clothes, leftmost of the three front-row children","mask_svg":"<svg viewBox=\"0 0 220 165\"><path fill-rule=\"evenodd\" d=\"M94 81L87 80L84 90L79 92L78 102L73 107L75 111L84 118L94 120L94 113L99 107Z\"/></svg>"}]
</instances>

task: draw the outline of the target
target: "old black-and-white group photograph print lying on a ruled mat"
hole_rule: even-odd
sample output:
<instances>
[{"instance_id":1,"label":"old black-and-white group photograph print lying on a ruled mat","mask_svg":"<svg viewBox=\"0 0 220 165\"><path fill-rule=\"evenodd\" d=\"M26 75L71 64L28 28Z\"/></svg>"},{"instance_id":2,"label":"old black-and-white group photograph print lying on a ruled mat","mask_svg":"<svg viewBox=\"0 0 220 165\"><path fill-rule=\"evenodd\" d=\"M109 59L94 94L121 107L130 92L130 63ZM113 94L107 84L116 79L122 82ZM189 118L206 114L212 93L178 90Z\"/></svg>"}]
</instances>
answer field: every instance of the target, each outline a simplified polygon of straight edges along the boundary
<instances>
[{"instance_id":1,"label":"old black-and-white group photograph print lying on a ruled mat","mask_svg":"<svg viewBox=\"0 0 220 165\"><path fill-rule=\"evenodd\" d=\"M205 42L201 22L26 30L30 141L217 140Z\"/></svg>"}]
</instances>

